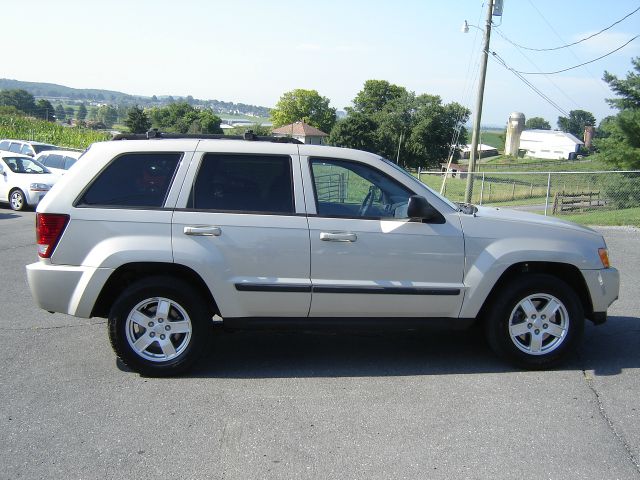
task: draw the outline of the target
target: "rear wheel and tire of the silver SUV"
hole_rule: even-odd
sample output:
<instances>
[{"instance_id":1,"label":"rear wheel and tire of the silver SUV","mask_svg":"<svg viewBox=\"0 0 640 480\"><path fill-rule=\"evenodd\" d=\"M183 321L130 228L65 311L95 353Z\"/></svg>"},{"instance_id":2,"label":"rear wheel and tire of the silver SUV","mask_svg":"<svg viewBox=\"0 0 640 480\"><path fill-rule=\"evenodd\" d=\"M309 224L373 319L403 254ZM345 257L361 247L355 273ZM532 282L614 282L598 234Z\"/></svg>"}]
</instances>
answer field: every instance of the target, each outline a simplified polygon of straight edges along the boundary
<instances>
[{"instance_id":1,"label":"rear wheel and tire of the silver SUV","mask_svg":"<svg viewBox=\"0 0 640 480\"><path fill-rule=\"evenodd\" d=\"M150 277L129 286L109 312L116 355L149 377L186 372L206 349L212 315L202 298L182 280Z\"/></svg>"}]
</instances>

